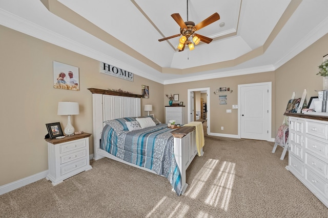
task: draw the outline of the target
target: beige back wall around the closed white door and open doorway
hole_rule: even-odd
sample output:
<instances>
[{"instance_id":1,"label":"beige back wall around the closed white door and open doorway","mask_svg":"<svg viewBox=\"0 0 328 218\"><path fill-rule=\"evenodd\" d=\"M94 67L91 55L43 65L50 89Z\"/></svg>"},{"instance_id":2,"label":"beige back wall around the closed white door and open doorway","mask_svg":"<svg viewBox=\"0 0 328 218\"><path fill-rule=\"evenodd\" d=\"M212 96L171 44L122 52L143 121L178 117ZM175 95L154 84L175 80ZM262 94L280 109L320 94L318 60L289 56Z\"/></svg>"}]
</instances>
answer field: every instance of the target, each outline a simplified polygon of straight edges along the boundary
<instances>
[{"instance_id":1,"label":"beige back wall around the closed white door and open doorway","mask_svg":"<svg viewBox=\"0 0 328 218\"><path fill-rule=\"evenodd\" d=\"M212 133L221 133L221 134L238 134L238 110L233 109L232 113L226 113L227 109L232 109L232 105L238 104L238 85L239 84L250 84L250 83L261 83L261 82L272 82L272 92L274 99L274 72L262 72L259 74L250 74L243 76L235 77L226 77L218 78L211 80L201 80L195 82L179 83L166 85L164 88L165 93L174 93L179 94L179 101L183 102L186 105L186 115L185 120L188 120L187 113L187 98L188 98L188 89L198 89L198 88L207 88L210 87L210 101L211 108L208 108L208 111L211 113L211 132ZM229 87L230 90L233 90L232 93L227 94L228 104L219 105L219 95L214 94L214 91L219 87ZM164 104L168 105L168 100L164 100ZM274 102L273 102L274 105ZM274 113L273 113L274 117ZM221 130L221 127L224 127L224 130Z\"/></svg>"}]
</instances>

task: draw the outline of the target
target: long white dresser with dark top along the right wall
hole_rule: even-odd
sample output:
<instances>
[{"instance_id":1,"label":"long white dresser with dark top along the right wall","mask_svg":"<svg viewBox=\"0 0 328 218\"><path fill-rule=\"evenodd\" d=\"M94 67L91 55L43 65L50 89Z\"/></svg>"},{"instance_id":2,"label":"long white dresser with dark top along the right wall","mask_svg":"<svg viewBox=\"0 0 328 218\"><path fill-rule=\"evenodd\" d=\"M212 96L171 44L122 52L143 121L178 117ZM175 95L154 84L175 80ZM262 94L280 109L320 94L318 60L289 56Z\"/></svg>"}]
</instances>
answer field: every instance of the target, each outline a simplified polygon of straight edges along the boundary
<instances>
[{"instance_id":1,"label":"long white dresser with dark top along the right wall","mask_svg":"<svg viewBox=\"0 0 328 218\"><path fill-rule=\"evenodd\" d=\"M328 207L328 117L289 115L289 164L293 173Z\"/></svg>"}]
</instances>

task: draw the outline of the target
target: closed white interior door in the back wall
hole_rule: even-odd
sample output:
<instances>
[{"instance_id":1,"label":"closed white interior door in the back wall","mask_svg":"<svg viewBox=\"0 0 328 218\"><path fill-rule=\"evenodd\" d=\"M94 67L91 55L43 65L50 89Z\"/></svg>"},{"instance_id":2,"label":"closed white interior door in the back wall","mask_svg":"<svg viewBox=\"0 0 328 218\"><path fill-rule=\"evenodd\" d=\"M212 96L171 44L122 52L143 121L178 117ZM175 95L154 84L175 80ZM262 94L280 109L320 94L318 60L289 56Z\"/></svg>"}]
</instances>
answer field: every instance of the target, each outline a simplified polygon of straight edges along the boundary
<instances>
[{"instance_id":1,"label":"closed white interior door in the back wall","mask_svg":"<svg viewBox=\"0 0 328 218\"><path fill-rule=\"evenodd\" d=\"M271 82L238 85L240 137L271 138Z\"/></svg>"}]
</instances>

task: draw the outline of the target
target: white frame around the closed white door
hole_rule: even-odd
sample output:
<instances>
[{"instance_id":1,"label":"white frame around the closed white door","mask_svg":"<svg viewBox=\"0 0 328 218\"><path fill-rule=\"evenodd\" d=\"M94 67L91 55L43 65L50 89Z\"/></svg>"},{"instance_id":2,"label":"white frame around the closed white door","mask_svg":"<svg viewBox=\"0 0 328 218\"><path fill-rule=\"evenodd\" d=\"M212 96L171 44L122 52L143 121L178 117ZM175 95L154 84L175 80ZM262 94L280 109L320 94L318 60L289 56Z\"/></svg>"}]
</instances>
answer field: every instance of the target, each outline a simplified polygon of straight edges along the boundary
<instances>
[{"instance_id":1,"label":"white frame around the closed white door","mask_svg":"<svg viewBox=\"0 0 328 218\"><path fill-rule=\"evenodd\" d=\"M238 107L243 107L241 105L241 88L242 87L249 87L249 86L260 86L260 85L268 85L268 138L267 141L274 141L272 138L272 82L263 82L263 83L250 83L250 84L241 84L238 85ZM238 110L238 138L241 138L241 110Z\"/></svg>"}]
</instances>

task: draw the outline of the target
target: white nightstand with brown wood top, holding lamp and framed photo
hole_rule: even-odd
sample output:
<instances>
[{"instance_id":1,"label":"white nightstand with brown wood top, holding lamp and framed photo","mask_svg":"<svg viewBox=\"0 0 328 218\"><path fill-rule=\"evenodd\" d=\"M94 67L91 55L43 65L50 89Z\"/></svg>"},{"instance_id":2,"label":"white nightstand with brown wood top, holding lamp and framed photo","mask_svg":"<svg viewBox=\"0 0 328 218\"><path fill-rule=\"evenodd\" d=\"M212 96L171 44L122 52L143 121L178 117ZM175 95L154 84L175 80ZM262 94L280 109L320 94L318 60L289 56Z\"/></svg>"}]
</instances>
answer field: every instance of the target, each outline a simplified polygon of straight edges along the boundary
<instances>
[{"instance_id":1,"label":"white nightstand with brown wood top, holding lamp and framed photo","mask_svg":"<svg viewBox=\"0 0 328 218\"><path fill-rule=\"evenodd\" d=\"M57 185L83 171L92 169L89 160L90 133L68 136L61 139L49 139L47 180Z\"/></svg>"}]
</instances>

